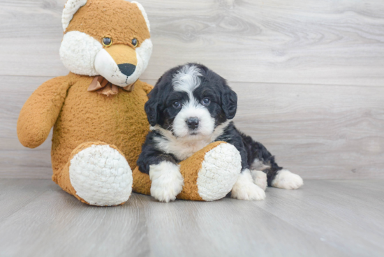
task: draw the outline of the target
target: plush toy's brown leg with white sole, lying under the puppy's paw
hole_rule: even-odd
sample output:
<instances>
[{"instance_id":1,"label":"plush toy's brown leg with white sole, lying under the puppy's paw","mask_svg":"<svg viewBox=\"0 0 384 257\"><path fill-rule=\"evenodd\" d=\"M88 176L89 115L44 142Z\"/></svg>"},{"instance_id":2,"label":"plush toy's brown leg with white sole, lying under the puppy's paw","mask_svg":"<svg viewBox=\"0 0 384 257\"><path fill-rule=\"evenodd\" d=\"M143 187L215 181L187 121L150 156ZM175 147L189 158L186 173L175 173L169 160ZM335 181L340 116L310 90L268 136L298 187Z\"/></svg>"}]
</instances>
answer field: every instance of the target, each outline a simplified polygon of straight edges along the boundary
<instances>
[{"instance_id":1,"label":"plush toy's brown leg with white sole, lying under the puppy's paw","mask_svg":"<svg viewBox=\"0 0 384 257\"><path fill-rule=\"evenodd\" d=\"M179 163L184 186L178 199L218 200L225 197L237 181L242 168L237 149L226 142L213 142ZM149 175L133 170L133 191L151 194Z\"/></svg>"}]
</instances>

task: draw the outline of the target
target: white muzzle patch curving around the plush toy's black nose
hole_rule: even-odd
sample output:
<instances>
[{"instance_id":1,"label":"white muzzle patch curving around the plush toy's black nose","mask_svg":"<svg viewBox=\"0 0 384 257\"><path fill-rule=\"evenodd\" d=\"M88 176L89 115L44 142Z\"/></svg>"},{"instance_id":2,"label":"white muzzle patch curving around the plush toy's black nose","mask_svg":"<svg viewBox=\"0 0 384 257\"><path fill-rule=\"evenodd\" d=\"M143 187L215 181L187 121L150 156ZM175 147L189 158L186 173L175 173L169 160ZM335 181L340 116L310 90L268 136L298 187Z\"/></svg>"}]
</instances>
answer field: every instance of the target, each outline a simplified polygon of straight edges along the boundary
<instances>
[{"instance_id":1,"label":"white muzzle patch curving around the plush toy's black nose","mask_svg":"<svg viewBox=\"0 0 384 257\"><path fill-rule=\"evenodd\" d=\"M136 64L135 71L130 76L121 73L115 60L105 49L102 49L96 54L94 67L99 75L102 75L112 84L126 87L138 80L140 75L145 71L145 68L147 68L149 57L151 57L152 54L152 41L146 39L141 43L140 47L135 49L135 51L138 63Z\"/></svg>"}]
</instances>

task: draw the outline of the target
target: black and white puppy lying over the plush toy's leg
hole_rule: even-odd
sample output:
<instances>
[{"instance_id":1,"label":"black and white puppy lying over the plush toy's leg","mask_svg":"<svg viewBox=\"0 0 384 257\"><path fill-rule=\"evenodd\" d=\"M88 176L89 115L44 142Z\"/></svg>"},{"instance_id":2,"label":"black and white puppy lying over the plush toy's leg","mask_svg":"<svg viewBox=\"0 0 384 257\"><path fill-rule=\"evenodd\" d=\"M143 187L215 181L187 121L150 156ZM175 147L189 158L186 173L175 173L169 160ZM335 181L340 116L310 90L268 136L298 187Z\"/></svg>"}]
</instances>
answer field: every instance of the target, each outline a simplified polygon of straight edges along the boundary
<instances>
[{"instance_id":1,"label":"black and white puppy lying over the plush toy's leg","mask_svg":"<svg viewBox=\"0 0 384 257\"><path fill-rule=\"evenodd\" d=\"M232 198L263 200L267 185L302 186L299 175L279 167L260 142L236 129L231 121L236 110L237 94L205 66L186 64L163 74L145 104L151 131L138 159L139 170L152 180L154 198L175 200L184 183L177 163L215 141L234 145L242 158Z\"/></svg>"}]
</instances>

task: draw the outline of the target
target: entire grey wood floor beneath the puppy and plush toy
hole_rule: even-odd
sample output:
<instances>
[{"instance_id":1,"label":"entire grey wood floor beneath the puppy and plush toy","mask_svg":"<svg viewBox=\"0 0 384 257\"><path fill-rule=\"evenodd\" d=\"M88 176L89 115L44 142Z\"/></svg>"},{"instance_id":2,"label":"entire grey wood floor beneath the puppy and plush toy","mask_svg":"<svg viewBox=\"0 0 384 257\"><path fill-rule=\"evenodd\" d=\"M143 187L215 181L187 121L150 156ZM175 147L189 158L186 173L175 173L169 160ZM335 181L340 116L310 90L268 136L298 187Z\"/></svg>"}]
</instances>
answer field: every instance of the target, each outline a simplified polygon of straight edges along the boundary
<instances>
[{"instance_id":1,"label":"entire grey wood floor beneath the puppy and plush toy","mask_svg":"<svg viewBox=\"0 0 384 257\"><path fill-rule=\"evenodd\" d=\"M263 201L91 207L48 179L0 179L0 256L383 256L383 180L307 180Z\"/></svg>"}]
</instances>

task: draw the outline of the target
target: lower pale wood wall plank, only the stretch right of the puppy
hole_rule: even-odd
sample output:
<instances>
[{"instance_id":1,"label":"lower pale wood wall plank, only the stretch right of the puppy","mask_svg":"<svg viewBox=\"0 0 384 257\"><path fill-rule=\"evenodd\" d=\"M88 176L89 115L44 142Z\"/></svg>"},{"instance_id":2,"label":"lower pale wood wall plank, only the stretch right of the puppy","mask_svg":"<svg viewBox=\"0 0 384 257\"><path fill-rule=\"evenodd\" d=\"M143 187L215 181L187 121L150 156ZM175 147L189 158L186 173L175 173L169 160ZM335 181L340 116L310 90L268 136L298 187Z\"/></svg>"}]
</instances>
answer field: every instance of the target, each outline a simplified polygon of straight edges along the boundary
<instances>
[{"instance_id":1,"label":"lower pale wood wall plank, only the stretch right of the puppy","mask_svg":"<svg viewBox=\"0 0 384 257\"><path fill-rule=\"evenodd\" d=\"M230 83L235 124L305 178L384 178L383 87Z\"/></svg>"}]
</instances>

